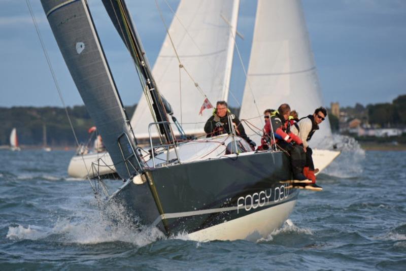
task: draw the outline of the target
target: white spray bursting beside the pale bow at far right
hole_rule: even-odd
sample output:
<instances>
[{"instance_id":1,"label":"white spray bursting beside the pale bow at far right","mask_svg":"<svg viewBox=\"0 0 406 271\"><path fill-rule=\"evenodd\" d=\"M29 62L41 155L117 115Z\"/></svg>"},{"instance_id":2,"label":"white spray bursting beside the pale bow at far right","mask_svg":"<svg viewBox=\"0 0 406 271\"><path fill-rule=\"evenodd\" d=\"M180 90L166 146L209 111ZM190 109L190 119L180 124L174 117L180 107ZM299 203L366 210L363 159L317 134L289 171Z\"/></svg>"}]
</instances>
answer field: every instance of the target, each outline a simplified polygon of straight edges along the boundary
<instances>
[{"instance_id":1,"label":"white spray bursting beside the pale bow at far right","mask_svg":"<svg viewBox=\"0 0 406 271\"><path fill-rule=\"evenodd\" d=\"M354 138L334 134L333 144L341 150L341 154L323 171L323 174L338 178L359 177L365 159L365 151L359 143Z\"/></svg>"}]
</instances>

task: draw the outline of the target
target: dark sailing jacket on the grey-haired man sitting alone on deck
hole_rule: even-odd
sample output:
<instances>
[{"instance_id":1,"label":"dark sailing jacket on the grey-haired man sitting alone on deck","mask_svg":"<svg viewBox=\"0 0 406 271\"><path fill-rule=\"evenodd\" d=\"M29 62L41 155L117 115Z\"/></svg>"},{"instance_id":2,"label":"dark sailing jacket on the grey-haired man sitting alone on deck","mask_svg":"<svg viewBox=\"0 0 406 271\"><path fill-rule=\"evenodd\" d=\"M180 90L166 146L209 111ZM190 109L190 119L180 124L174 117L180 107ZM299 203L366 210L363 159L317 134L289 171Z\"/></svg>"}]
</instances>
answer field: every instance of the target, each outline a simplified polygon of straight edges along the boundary
<instances>
[{"instance_id":1,"label":"dark sailing jacket on the grey-haired man sitting alone on deck","mask_svg":"<svg viewBox=\"0 0 406 271\"><path fill-rule=\"evenodd\" d=\"M214 136L218 136L219 134L223 133L228 133L230 134L230 126L228 124L228 116L231 117L232 123L235 124L235 133L237 136L242 137L245 139L248 143L251 143L251 140L249 137L247 137L247 134L245 133L244 126L239 120L238 117L236 117L234 114L231 114L230 111L227 111L227 114L220 118L217 116L216 113L213 113L213 116L211 116L206 124L205 124L205 132L207 133L207 138L211 138Z\"/></svg>"}]
</instances>

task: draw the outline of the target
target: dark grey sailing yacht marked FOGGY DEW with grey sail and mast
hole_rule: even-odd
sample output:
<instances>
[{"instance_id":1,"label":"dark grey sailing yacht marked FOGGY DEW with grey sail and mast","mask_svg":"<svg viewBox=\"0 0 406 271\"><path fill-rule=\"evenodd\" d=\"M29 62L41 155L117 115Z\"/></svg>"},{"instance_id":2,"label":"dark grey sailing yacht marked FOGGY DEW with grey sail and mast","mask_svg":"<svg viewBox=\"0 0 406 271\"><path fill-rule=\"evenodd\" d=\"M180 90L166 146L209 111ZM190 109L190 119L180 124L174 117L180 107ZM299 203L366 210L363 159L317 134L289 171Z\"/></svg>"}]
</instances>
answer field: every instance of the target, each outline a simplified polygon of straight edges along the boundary
<instances>
[{"instance_id":1,"label":"dark grey sailing yacht marked FOGGY DEW with grey sail and mast","mask_svg":"<svg viewBox=\"0 0 406 271\"><path fill-rule=\"evenodd\" d=\"M282 225L299 194L299 189L292 186L295 180L289 158L278 150L251 151L232 125L231 134L179 141L179 136L185 136L182 124L187 124L187 118L179 123L174 116L183 115L182 103L171 100L176 104L171 107L162 95L165 90L160 91L159 76L157 80L152 76L124 0L103 0L103 4L134 60L151 114L151 122L143 128L137 126L139 131L132 127L125 112L87 2L41 3L84 104L103 137L117 174L124 180L113 194L104 189L109 201L123 205L134 223L156 226L167 235L187 233L197 241L257 240ZM186 1L182 3L188 5ZM214 17L222 18L216 25L227 29L230 37L230 22L238 12L239 1L201 3L193 18L204 18L200 12L213 8ZM178 63L179 69L186 67L183 63ZM224 71L223 67L219 69ZM197 82L192 82L197 88ZM217 99L210 96L209 90L200 94L206 99ZM222 95L227 98L227 94ZM191 131L196 132L193 125ZM136 136L145 131L149 138L147 148L139 144L141 136ZM101 181L100 186L104 187Z\"/></svg>"}]
</instances>

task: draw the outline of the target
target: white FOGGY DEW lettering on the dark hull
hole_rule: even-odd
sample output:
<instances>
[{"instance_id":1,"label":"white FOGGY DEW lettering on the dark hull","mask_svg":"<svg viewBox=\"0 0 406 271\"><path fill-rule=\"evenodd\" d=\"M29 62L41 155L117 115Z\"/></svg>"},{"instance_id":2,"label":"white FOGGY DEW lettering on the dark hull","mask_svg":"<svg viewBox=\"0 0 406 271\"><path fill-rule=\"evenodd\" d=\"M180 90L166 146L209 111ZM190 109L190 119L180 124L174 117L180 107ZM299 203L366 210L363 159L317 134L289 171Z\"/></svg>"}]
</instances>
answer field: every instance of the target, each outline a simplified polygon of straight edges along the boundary
<instances>
[{"instance_id":1,"label":"white FOGGY DEW lettering on the dark hull","mask_svg":"<svg viewBox=\"0 0 406 271\"><path fill-rule=\"evenodd\" d=\"M272 195L273 198L271 199ZM244 207L245 211L250 211L251 209L262 207L265 204L269 205L271 201L278 202L280 200L284 200L288 197L288 195L289 186L288 184L283 184L275 187L274 191L272 191L272 188L269 188L267 190L241 196L237 200L237 214L240 212L240 208L242 209Z\"/></svg>"}]
</instances>

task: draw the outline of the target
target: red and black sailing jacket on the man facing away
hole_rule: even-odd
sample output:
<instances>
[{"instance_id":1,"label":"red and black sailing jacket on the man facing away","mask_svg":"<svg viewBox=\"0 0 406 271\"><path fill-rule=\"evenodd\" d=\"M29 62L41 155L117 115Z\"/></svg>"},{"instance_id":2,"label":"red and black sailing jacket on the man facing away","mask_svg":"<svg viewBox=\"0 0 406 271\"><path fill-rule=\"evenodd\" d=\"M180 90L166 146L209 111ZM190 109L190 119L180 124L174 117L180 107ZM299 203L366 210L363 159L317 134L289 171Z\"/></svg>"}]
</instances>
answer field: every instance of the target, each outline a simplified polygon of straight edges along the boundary
<instances>
[{"instance_id":1,"label":"red and black sailing jacket on the man facing away","mask_svg":"<svg viewBox=\"0 0 406 271\"><path fill-rule=\"evenodd\" d=\"M303 144L301 139L298 136L296 136L296 134L291 132L290 121L285 120L283 116L280 116L277 111L270 116L270 121L267 120L265 122L263 130L264 136L261 139L262 146L267 144L267 139L270 138L270 133L272 131L274 131L276 142L283 140L286 141L287 143L291 143L293 141L298 145Z\"/></svg>"}]
</instances>

